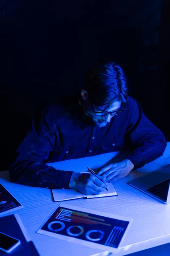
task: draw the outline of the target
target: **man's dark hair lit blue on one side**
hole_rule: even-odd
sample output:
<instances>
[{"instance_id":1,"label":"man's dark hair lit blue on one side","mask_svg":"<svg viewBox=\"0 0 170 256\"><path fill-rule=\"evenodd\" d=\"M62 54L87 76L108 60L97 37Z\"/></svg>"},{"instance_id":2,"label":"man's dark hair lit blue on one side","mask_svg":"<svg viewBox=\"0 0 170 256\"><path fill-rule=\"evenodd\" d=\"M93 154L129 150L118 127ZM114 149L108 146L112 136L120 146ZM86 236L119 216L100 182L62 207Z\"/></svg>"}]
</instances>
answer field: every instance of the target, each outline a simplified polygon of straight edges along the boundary
<instances>
[{"instance_id":1,"label":"man's dark hair lit blue on one side","mask_svg":"<svg viewBox=\"0 0 170 256\"><path fill-rule=\"evenodd\" d=\"M126 102L128 81L115 62L94 64L87 70L84 89L96 106L118 100Z\"/></svg>"}]
</instances>

